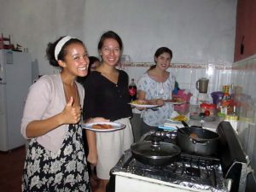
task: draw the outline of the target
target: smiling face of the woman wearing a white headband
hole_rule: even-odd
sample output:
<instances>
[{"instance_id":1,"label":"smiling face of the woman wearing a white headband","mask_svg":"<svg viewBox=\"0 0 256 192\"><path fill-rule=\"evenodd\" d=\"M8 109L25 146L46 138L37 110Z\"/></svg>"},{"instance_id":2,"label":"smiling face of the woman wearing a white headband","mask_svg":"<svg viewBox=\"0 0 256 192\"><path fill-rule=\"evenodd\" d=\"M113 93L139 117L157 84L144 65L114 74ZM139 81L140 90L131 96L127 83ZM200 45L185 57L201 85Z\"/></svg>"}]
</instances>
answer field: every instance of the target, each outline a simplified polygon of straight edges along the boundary
<instances>
[{"instance_id":1,"label":"smiling face of the woman wearing a white headband","mask_svg":"<svg viewBox=\"0 0 256 192\"><path fill-rule=\"evenodd\" d=\"M88 73L89 58L83 44L73 43L67 45L67 55L65 60L60 61L60 66L64 73L69 73L74 77L84 77Z\"/></svg>"}]
</instances>

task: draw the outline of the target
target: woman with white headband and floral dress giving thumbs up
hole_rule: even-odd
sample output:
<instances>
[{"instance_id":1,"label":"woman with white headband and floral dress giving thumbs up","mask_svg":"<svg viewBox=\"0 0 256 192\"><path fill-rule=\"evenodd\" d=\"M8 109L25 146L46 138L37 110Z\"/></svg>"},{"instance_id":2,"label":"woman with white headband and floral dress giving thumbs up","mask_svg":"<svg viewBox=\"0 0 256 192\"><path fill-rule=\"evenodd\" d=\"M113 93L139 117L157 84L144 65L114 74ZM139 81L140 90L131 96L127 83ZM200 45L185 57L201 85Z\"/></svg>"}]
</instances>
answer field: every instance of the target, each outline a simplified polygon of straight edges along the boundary
<instances>
[{"instance_id":1,"label":"woman with white headband and floral dress giving thumbs up","mask_svg":"<svg viewBox=\"0 0 256 192\"><path fill-rule=\"evenodd\" d=\"M75 80L88 73L87 50L66 36L49 43L46 56L61 73L38 79L26 98L21 133L29 144L22 191L90 191L80 125L84 89ZM97 120L106 119L92 119Z\"/></svg>"}]
</instances>

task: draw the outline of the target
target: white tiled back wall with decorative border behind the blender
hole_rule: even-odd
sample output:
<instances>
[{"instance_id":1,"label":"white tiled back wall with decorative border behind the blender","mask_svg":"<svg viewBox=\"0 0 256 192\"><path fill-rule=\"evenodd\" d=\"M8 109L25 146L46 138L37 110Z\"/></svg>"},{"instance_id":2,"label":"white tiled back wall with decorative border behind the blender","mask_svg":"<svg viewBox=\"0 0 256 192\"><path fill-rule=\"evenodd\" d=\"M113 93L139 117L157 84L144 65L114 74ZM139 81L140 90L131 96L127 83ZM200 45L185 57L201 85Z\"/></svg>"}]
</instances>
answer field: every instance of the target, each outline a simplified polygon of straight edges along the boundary
<instances>
[{"instance_id":1,"label":"white tiled back wall with decorative border behind the blender","mask_svg":"<svg viewBox=\"0 0 256 192\"><path fill-rule=\"evenodd\" d=\"M120 68L125 70L129 74L130 79L137 80L145 73L150 66L154 63L150 62L126 62L120 64ZM209 99L212 97L210 94L213 91L222 90L223 84L230 84L231 79L231 67L230 63L222 64L198 64L198 63L172 63L168 69L173 75L175 75L179 87L181 89L188 89L193 96L191 97L191 103L195 104L198 90L195 88L195 83L200 78L209 79L208 91Z\"/></svg>"}]
</instances>

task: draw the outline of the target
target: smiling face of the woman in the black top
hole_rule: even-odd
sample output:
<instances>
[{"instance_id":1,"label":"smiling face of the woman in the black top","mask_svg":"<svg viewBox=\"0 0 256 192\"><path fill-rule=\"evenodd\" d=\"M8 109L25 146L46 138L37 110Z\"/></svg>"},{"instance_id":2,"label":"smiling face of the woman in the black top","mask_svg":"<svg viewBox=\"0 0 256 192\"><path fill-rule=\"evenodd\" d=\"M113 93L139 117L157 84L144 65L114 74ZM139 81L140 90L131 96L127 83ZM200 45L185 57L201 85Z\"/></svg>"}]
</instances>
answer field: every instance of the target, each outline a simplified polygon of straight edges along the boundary
<instances>
[{"instance_id":1,"label":"smiling face of the woman in the black top","mask_svg":"<svg viewBox=\"0 0 256 192\"><path fill-rule=\"evenodd\" d=\"M109 66L115 66L119 62L121 52L118 41L113 38L106 38L102 44L102 49L99 49L103 63Z\"/></svg>"}]
</instances>

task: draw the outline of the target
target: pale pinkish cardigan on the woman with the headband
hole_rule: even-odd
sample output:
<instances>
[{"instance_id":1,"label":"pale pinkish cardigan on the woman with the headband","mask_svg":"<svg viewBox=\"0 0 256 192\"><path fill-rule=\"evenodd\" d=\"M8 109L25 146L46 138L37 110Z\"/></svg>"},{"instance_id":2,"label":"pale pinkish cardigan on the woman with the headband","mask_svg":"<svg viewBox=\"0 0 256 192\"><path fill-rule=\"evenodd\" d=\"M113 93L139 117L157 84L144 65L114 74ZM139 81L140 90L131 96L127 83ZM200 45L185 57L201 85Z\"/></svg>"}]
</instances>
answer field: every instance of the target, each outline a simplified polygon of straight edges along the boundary
<instances>
[{"instance_id":1,"label":"pale pinkish cardigan on the woman with the headband","mask_svg":"<svg viewBox=\"0 0 256 192\"><path fill-rule=\"evenodd\" d=\"M80 104L84 102L84 87L77 83ZM33 120L48 119L66 106L61 74L45 75L38 79L29 89L21 120L21 134L26 137L26 126ZM61 125L41 137L37 137L39 144L52 152L57 152L66 136L69 125Z\"/></svg>"}]
</instances>

